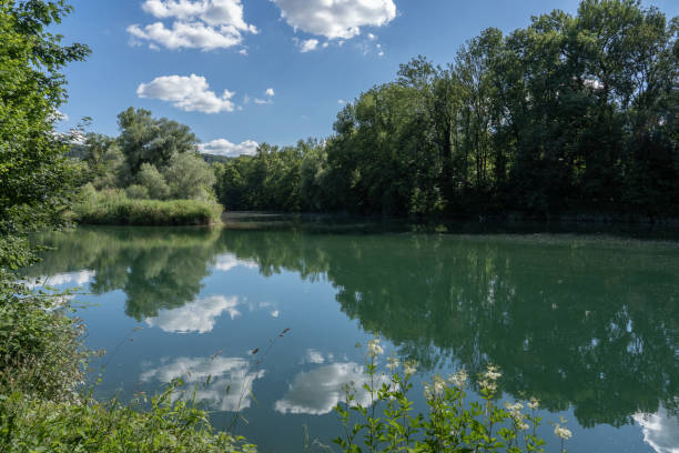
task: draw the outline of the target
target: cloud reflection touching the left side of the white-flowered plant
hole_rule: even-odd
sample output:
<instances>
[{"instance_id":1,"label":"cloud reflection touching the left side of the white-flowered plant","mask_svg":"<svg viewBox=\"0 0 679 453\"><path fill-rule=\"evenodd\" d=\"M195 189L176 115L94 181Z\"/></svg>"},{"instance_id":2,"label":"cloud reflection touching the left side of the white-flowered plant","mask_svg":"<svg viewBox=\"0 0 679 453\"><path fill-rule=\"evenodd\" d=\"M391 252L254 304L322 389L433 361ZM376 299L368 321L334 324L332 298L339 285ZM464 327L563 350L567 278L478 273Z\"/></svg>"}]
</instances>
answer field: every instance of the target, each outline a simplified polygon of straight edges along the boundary
<instances>
[{"instance_id":1,"label":"cloud reflection touching the left side of the white-flowered plant","mask_svg":"<svg viewBox=\"0 0 679 453\"><path fill-rule=\"evenodd\" d=\"M379 376L376 386L382 386L387 381L386 376ZM308 373L297 374L285 396L276 401L274 407L283 414L327 414L340 401L344 401L343 386L352 382L356 389L356 403L368 405L371 396L363 385L369 380L363 366L349 362L333 363Z\"/></svg>"}]
</instances>

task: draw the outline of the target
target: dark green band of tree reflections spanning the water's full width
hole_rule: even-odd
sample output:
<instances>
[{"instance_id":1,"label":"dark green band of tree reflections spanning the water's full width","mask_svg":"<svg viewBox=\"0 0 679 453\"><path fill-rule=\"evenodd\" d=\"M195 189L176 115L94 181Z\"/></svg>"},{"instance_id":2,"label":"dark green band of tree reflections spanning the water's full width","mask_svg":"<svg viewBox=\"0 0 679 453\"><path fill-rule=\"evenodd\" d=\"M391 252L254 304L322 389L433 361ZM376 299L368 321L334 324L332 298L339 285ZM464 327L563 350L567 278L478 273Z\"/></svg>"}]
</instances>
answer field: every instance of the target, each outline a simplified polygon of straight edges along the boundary
<instances>
[{"instance_id":1,"label":"dark green band of tree reflections spanning the water's full width","mask_svg":"<svg viewBox=\"0 0 679 453\"><path fill-rule=\"evenodd\" d=\"M327 279L342 311L403 356L428 370L457 362L473 373L494 362L504 390L535 395L553 411L572 406L584 426L620 426L661 406L679 415L677 243L412 234L423 228L347 218L236 221L237 229L50 234L41 241L58 252L27 272L93 271L89 291L123 291L125 313L141 320L193 301L215 263L235 256L264 276ZM384 231L392 234L366 234Z\"/></svg>"}]
</instances>

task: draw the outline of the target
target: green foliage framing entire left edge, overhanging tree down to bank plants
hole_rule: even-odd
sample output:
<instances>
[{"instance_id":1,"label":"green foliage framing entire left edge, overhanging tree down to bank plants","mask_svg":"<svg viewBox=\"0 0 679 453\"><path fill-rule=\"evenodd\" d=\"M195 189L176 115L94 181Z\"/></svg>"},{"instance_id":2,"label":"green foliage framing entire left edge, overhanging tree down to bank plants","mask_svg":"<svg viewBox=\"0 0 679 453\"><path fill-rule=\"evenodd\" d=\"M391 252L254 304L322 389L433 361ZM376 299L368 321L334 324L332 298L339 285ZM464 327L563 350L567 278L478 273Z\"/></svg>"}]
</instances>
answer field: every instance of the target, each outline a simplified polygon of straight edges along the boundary
<instances>
[{"instance_id":1,"label":"green foliage framing entire left edge, overhanging tree down to bank plants","mask_svg":"<svg viewBox=\"0 0 679 453\"><path fill-rule=\"evenodd\" d=\"M173 402L174 389L150 406L91 401L70 294L34 292L16 273L36 262L26 233L60 225L80 182L53 123L65 97L59 71L89 50L47 31L70 10L62 0L0 0L0 451L251 451Z\"/></svg>"}]
</instances>

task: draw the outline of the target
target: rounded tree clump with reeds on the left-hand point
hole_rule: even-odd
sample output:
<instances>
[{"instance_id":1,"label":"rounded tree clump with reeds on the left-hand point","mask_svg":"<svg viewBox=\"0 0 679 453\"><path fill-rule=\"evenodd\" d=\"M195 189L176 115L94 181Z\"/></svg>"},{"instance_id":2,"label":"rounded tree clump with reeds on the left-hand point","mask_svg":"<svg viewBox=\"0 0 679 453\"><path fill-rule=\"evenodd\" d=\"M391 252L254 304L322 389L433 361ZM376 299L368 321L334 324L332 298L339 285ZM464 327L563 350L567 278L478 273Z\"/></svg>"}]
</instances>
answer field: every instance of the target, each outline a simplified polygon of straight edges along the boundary
<instances>
[{"instance_id":1,"label":"rounded tree clump with reeds on the left-hand point","mask_svg":"<svg viewBox=\"0 0 679 453\"><path fill-rule=\"evenodd\" d=\"M129 108L118 115L120 135L84 135L69 155L88 183L75 220L93 224L178 225L216 223L215 175L197 154L188 125Z\"/></svg>"}]
</instances>

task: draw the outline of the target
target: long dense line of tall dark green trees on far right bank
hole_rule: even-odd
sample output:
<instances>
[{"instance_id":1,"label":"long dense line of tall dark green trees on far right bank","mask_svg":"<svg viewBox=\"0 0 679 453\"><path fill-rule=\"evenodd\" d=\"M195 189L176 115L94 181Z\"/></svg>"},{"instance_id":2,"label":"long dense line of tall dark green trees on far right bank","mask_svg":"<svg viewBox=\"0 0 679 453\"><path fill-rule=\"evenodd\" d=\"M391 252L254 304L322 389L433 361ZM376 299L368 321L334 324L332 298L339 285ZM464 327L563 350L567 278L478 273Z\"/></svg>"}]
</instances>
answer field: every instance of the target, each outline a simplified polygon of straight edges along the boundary
<instances>
[{"instance_id":1,"label":"long dense line of tall dark green trees on far right bank","mask_svg":"<svg viewBox=\"0 0 679 453\"><path fill-rule=\"evenodd\" d=\"M639 0L487 29L418 57L337 115L323 143L221 167L226 209L677 215L679 18Z\"/></svg>"}]
</instances>

